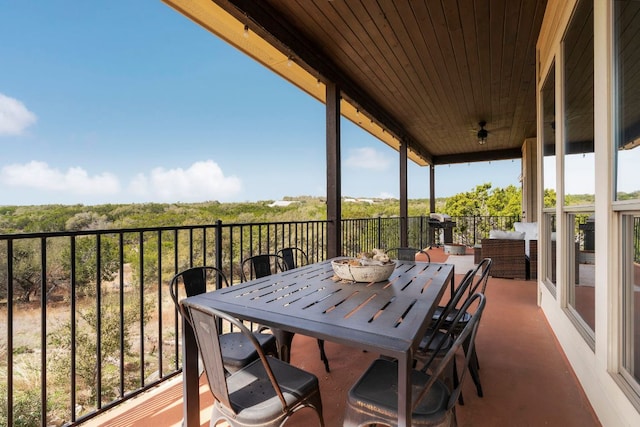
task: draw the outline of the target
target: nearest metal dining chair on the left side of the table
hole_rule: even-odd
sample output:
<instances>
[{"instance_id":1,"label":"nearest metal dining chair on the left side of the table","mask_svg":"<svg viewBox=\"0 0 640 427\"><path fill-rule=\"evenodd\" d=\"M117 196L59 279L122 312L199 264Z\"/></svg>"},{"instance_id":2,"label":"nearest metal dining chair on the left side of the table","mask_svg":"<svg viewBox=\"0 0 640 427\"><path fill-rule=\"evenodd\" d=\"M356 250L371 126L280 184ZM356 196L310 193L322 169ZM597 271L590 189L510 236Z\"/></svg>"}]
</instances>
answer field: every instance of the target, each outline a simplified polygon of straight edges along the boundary
<instances>
[{"instance_id":1,"label":"nearest metal dining chair on the left side of the table","mask_svg":"<svg viewBox=\"0 0 640 427\"><path fill-rule=\"evenodd\" d=\"M312 408L324 426L318 378L310 372L267 357L255 335L238 319L185 300L181 303L193 322L198 350L209 389L214 396L210 425L225 421L231 427L282 426L295 412ZM232 324L246 337L258 359L231 375L223 372L217 325Z\"/></svg>"}]
</instances>

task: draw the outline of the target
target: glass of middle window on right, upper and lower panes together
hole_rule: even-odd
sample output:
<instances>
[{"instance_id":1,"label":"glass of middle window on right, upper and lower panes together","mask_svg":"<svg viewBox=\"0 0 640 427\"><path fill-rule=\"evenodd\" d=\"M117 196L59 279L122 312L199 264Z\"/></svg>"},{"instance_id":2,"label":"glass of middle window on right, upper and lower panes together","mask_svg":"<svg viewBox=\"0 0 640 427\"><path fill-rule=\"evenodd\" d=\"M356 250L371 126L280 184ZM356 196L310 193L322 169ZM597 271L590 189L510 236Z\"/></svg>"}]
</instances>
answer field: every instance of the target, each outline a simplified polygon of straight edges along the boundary
<instances>
[{"instance_id":1,"label":"glass of middle window on right, upper and lower panes together","mask_svg":"<svg viewBox=\"0 0 640 427\"><path fill-rule=\"evenodd\" d=\"M563 40L563 158L566 206L595 204L593 0L579 0ZM569 232L558 236L564 270L559 282L567 306L586 336L595 339L595 221L593 212L569 212ZM564 241L564 238L567 241ZM586 245L586 246L585 246ZM587 264L586 260L590 261ZM583 271L584 270L584 273Z\"/></svg>"}]
</instances>

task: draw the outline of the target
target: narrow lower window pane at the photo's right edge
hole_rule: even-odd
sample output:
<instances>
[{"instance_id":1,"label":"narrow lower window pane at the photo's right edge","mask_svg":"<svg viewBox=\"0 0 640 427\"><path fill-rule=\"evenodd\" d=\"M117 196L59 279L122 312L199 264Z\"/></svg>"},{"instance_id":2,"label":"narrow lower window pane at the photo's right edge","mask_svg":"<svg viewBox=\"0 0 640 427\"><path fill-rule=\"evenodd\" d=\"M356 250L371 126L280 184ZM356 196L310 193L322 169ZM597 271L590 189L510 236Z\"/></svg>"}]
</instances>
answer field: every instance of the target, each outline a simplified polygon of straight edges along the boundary
<instances>
[{"instance_id":1,"label":"narrow lower window pane at the photo's right edge","mask_svg":"<svg viewBox=\"0 0 640 427\"><path fill-rule=\"evenodd\" d=\"M640 214L622 216L622 368L640 381Z\"/></svg>"}]
</instances>

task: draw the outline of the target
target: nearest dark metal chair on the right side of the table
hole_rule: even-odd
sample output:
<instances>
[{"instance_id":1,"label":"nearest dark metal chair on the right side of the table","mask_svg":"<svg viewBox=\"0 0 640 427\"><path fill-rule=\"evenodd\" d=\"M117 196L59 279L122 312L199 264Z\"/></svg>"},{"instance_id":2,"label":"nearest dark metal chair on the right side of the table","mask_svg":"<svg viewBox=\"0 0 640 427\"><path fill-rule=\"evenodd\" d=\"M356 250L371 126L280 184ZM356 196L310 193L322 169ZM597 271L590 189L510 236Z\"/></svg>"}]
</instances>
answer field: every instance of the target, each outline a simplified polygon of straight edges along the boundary
<instances>
[{"instance_id":1,"label":"nearest dark metal chair on the right side of the table","mask_svg":"<svg viewBox=\"0 0 640 427\"><path fill-rule=\"evenodd\" d=\"M460 395L463 380L478 331L480 318L485 307L485 296L475 294L467 299L463 306L465 312L475 307L471 319L466 323L462 332L455 336L453 329L457 327L462 312L452 322L446 332L446 340L435 345L436 352L443 351L446 343L452 340L445 355L432 363L428 363L420 370L412 370L411 399L414 402L411 414L411 425L419 426L450 426L456 425L455 406ZM465 346L465 343L471 343ZM464 363L460 381L454 388L449 388L440 376L455 366L455 355L463 349ZM345 427L356 427L369 424L397 425L398 422L398 366L397 361L376 359L367 371L351 387L347 396L344 419Z\"/></svg>"}]
</instances>

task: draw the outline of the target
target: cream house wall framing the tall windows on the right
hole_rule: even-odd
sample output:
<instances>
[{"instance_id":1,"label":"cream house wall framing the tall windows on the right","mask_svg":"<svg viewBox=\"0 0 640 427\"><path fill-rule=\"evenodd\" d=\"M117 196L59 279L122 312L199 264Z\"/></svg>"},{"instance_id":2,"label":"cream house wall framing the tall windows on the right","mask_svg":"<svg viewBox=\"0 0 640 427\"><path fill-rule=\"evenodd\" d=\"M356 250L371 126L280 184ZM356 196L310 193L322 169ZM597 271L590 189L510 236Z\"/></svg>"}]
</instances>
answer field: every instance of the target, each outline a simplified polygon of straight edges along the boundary
<instances>
[{"instance_id":1,"label":"cream house wall framing the tall windows on the right","mask_svg":"<svg viewBox=\"0 0 640 427\"><path fill-rule=\"evenodd\" d=\"M585 0L582 0L585 1ZM591 0L586 0L591 1ZM555 64L555 131L556 147L562 150L563 137L563 48L562 37L570 22L578 0L549 0L542 30L538 39L538 135L542 135L541 88L552 64ZM595 203L587 210L595 212L598 218L595 229L595 328L592 334L584 332L584 325L576 320L568 303L572 285L568 283L571 275L570 260L565 256L570 251L570 227L567 223L566 209L563 209L561 194L562 152L557 153L556 191L558 202L551 210L557 218L555 236L557 280L555 284L545 283L545 275L540 274L539 304L544 311L558 342L571 363L588 399L595 409L601 423L605 426L640 425L640 399L637 391L628 386L620 375L622 331L620 326L621 300L620 288L620 237L617 217L612 209L612 188L615 174L613 152L613 72L612 72L612 0L594 0L593 46L594 46L594 157L595 167ZM538 143L538 198L543 200L543 154ZM542 203L540 203L542 205ZM555 211L555 212L553 212ZM543 206L538 207L538 218L545 213ZM541 264L548 259L544 253L545 234L542 233ZM541 271L547 268L541 266ZM636 389L637 390L637 389Z\"/></svg>"}]
</instances>

